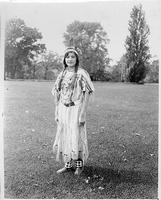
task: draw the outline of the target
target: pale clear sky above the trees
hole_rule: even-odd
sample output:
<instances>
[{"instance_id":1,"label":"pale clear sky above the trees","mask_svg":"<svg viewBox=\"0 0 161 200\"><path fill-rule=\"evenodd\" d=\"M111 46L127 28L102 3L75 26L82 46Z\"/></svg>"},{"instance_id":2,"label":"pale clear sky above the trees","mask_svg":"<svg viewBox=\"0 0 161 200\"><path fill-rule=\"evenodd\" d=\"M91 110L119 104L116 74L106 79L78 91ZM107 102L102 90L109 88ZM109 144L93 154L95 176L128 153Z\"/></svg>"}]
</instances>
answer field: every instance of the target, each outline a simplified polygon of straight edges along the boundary
<instances>
[{"instance_id":1,"label":"pale clear sky above the trees","mask_svg":"<svg viewBox=\"0 0 161 200\"><path fill-rule=\"evenodd\" d=\"M107 45L112 63L119 61L125 53L130 12L134 5L142 4L145 19L150 28L149 46L154 58L159 56L161 44L161 4L159 0L142 1L78 1L8 3L6 19L19 17L27 26L37 28L43 35L42 42L48 50L63 55L65 46L63 34L67 25L75 20L99 22L106 31L110 42Z\"/></svg>"}]
</instances>

